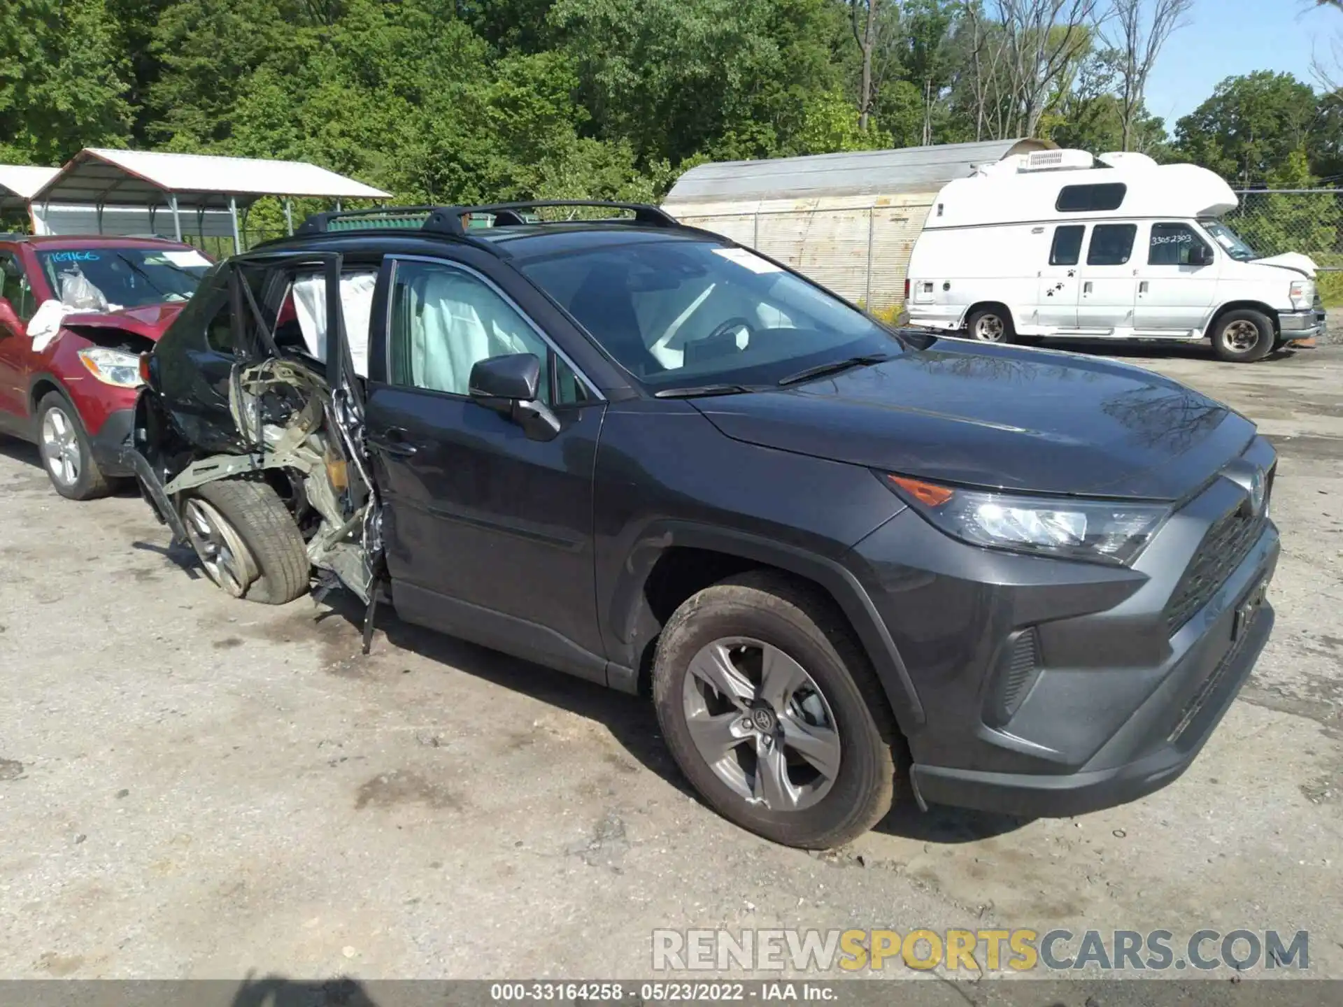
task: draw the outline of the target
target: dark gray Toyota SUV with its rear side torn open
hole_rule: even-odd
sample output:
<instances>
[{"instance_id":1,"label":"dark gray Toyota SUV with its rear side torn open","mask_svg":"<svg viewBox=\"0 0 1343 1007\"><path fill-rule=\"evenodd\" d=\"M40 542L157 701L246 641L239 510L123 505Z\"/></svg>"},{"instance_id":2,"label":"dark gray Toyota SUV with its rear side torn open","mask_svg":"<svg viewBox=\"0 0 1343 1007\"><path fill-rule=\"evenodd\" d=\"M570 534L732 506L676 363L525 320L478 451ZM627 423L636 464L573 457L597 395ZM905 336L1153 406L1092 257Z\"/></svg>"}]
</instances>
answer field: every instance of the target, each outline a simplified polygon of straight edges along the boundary
<instances>
[{"instance_id":1,"label":"dark gray Toyota SUV with its rear side torn open","mask_svg":"<svg viewBox=\"0 0 1343 1007\"><path fill-rule=\"evenodd\" d=\"M1099 358L894 332L627 204L325 213L216 267L130 461L228 593L344 585L650 694L782 843L1072 815L1193 761L1273 626L1276 457Z\"/></svg>"}]
</instances>

